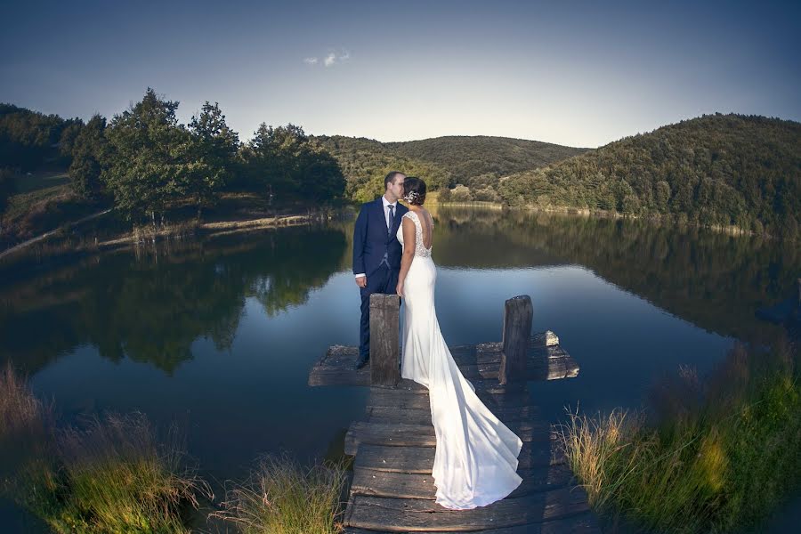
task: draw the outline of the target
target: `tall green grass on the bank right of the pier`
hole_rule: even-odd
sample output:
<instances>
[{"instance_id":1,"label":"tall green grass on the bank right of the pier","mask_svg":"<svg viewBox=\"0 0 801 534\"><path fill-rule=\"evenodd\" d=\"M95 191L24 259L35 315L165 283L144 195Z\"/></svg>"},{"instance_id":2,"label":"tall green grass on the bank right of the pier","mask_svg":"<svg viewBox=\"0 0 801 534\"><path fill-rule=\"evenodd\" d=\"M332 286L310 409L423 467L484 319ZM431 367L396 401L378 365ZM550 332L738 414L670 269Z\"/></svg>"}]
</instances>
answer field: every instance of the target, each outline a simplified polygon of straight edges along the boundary
<instances>
[{"instance_id":1,"label":"tall green grass on the bank right of the pier","mask_svg":"<svg viewBox=\"0 0 801 534\"><path fill-rule=\"evenodd\" d=\"M681 368L651 409L569 411L559 437L590 504L659 532L752 527L801 483L797 352L736 345L704 380Z\"/></svg>"}]
</instances>

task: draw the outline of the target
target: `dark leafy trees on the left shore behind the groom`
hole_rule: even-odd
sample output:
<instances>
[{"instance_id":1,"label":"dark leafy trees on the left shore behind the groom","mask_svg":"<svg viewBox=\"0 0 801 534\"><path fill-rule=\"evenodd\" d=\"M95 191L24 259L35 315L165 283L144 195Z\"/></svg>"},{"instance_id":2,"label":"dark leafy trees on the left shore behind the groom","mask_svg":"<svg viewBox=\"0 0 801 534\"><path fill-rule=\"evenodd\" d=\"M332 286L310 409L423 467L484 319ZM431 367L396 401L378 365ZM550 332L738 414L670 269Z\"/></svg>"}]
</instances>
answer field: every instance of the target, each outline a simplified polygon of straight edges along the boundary
<instances>
[{"instance_id":1,"label":"dark leafy trees on the left shore behind the groom","mask_svg":"<svg viewBox=\"0 0 801 534\"><path fill-rule=\"evenodd\" d=\"M0 108L0 213L20 174L69 166L72 189L87 201L113 203L125 218L155 222L175 206L198 218L224 190L256 191L268 205L320 206L344 198L344 175L327 151L295 125L262 123L250 142L206 103L190 124L177 101L148 88L142 101L108 123L95 115L63 120L28 109Z\"/></svg>"}]
</instances>

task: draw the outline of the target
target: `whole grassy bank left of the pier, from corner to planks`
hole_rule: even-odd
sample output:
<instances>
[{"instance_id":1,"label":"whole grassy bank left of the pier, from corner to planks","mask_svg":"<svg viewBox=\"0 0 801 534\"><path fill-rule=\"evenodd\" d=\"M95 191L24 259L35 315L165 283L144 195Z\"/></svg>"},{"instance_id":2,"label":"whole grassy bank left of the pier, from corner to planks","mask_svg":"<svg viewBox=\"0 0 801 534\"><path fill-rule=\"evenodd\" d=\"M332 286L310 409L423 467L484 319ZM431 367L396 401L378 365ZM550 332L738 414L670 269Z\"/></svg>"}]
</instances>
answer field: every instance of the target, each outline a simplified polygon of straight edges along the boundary
<instances>
[{"instance_id":1,"label":"whole grassy bank left of the pier, from corner to planks","mask_svg":"<svg viewBox=\"0 0 801 534\"><path fill-rule=\"evenodd\" d=\"M0 491L55 532L190 532L201 503L215 510L210 518L247 534L342 530L344 463L306 469L286 453L263 457L214 507L174 429L162 439L139 413L65 428L54 421L52 405L8 365L0 374Z\"/></svg>"}]
</instances>

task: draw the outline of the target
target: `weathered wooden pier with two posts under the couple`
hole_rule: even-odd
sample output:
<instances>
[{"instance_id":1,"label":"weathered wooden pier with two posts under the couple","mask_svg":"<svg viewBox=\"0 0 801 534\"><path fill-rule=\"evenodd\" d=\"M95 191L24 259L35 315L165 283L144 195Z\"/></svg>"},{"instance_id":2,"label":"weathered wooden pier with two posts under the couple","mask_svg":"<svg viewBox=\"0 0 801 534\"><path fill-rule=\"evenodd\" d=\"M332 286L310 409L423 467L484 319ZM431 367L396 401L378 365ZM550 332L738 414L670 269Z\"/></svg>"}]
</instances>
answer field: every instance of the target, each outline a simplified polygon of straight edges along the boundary
<instances>
[{"instance_id":1,"label":"weathered wooden pier with two posts under the couple","mask_svg":"<svg viewBox=\"0 0 801 534\"><path fill-rule=\"evenodd\" d=\"M522 483L506 498L472 510L449 510L434 501L436 436L428 390L401 379L400 347L392 340L399 304L397 295L372 295L367 366L354 370L358 349L335 345L309 375L310 385L370 387L365 420L354 421L345 436L345 454L355 457L345 533L600 533L587 494L576 485L527 385L578 376L578 364L553 332L530 336L528 296L506 301L503 341L450 348L481 401L523 441L517 470Z\"/></svg>"}]
</instances>

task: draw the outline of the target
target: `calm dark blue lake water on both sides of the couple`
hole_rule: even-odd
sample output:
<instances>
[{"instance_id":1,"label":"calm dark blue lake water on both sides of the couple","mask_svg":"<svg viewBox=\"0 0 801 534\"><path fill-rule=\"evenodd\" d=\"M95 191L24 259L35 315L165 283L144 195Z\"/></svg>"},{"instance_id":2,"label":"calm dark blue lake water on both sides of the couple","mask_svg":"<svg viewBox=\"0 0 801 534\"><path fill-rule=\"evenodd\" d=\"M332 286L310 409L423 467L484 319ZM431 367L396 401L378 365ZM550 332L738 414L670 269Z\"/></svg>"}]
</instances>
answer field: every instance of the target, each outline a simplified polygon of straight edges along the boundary
<instances>
[{"instance_id":1,"label":"calm dark blue lake water on both sides of the couple","mask_svg":"<svg viewBox=\"0 0 801 534\"><path fill-rule=\"evenodd\" d=\"M734 339L770 340L760 305L789 295L801 253L638 222L440 208L433 259L450 344L498 341L504 301L530 295L577 378L533 384L564 406L636 408L661 374L700 374ZM357 344L352 221L122 251L0 286L0 361L67 420L140 410L177 423L202 473L240 478L264 452L341 454L366 388L306 385L330 344Z\"/></svg>"}]
</instances>

